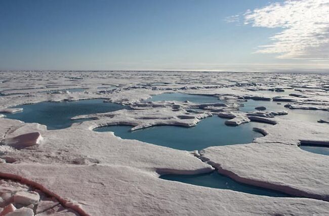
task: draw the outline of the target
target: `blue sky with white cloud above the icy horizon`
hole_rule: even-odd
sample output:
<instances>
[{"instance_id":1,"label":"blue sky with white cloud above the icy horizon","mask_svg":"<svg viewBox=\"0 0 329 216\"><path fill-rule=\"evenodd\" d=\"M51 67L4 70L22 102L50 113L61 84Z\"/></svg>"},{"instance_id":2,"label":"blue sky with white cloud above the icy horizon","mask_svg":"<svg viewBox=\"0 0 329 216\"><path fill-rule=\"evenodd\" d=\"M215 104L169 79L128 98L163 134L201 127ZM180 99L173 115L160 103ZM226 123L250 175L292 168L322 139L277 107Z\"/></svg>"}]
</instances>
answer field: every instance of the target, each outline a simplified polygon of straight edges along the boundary
<instances>
[{"instance_id":1,"label":"blue sky with white cloud above the icy horizon","mask_svg":"<svg viewBox=\"0 0 329 216\"><path fill-rule=\"evenodd\" d=\"M0 70L329 72L329 0L0 0Z\"/></svg>"}]
</instances>

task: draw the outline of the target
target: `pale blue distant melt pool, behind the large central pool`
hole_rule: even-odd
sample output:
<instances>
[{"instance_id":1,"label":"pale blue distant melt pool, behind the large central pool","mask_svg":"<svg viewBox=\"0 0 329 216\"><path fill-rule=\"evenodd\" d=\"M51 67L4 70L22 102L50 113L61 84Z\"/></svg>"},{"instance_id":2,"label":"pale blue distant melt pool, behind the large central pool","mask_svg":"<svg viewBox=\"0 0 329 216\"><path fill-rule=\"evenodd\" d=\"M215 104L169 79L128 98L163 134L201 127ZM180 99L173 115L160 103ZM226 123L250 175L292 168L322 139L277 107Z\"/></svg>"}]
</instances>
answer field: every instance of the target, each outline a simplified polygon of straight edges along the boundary
<instances>
[{"instance_id":1,"label":"pale blue distant melt pool, behind the large central pool","mask_svg":"<svg viewBox=\"0 0 329 216\"><path fill-rule=\"evenodd\" d=\"M162 93L152 96L148 101L189 101L196 104L224 103L224 101L218 100L217 97L184 93Z\"/></svg>"}]
</instances>

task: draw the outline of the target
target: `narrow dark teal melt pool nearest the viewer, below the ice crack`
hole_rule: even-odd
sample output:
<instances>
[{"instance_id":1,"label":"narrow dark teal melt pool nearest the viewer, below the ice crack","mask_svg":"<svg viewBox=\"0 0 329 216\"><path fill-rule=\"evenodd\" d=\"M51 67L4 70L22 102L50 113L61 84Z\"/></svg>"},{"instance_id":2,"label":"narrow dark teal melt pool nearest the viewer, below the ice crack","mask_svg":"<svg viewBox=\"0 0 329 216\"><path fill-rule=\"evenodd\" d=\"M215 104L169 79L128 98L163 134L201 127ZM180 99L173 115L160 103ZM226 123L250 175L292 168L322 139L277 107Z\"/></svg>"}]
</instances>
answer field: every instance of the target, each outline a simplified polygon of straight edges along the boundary
<instances>
[{"instance_id":1,"label":"narrow dark teal melt pool nearest the viewer, below the ice crack","mask_svg":"<svg viewBox=\"0 0 329 216\"><path fill-rule=\"evenodd\" d=\"M191 185L198 185L210 188L228 189L233 191L239 191L243 193L273 196L273 197L289 197L289 195L268 190L261 187L255 187L251 185L246 185L238 183L231 178L219 174L217 171L210 172L208 174L198 174L198 175L163 175L160 179L177 181Z\"/></svg>"}]
</instances>

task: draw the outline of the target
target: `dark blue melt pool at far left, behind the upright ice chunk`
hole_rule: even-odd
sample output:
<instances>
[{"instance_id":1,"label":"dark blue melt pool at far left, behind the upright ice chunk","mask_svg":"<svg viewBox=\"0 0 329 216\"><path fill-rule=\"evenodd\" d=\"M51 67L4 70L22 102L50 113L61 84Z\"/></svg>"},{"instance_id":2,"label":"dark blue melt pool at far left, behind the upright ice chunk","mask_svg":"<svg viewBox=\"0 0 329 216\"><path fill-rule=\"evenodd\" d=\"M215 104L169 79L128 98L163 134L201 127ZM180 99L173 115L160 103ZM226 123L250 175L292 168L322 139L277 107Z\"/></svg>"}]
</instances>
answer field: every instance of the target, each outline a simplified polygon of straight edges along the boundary
<instances>
[{"instance_id":1,"label":"dark blue melt pool at far left, behind the upright ice chunk","mask_svg":"<svg viewBox=\"0 0 329 216\"><path fill-rule=\"evenodd\" d=\"M80 122L81 120L71 120L76 115L104 113L128 108L115 103L105 103L102 99L70 102L40 102L17 107L23 108L23 111L13 114L6 113L6 117L24 122L44 124L48 129L62 129L69 127L74 122Z\"/></svg>"}]
</instances>

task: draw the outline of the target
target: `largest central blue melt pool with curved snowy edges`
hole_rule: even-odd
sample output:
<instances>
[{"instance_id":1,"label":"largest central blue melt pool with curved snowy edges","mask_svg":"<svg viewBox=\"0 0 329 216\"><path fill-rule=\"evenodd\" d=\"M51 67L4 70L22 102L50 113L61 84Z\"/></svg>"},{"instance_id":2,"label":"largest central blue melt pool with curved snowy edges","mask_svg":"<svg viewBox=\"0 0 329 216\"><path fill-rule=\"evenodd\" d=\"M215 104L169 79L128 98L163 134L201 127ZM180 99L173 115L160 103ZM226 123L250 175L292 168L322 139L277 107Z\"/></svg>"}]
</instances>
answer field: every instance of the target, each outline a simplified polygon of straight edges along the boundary
<instances>
[{"instance_id":1,"label":"largest central blue melt pool with curved snowy edges","mask_svg":"<svg viewBox=\"0 0 329 216\"><path fill-rule=\"evenodd\" d=\"M130 132L131 126L113 125L99 127L95 131L114 132L115 136L122 139L139 140L187 151L200 150L209 146L250 143L254 138L262 137L261 134L253 131L253 127L264 126L263 123L250 122L233 127L225 125L225 120L213 116L201 120L194 127L154 126Z\"/></svg>"}]
</instances>

